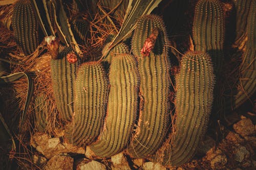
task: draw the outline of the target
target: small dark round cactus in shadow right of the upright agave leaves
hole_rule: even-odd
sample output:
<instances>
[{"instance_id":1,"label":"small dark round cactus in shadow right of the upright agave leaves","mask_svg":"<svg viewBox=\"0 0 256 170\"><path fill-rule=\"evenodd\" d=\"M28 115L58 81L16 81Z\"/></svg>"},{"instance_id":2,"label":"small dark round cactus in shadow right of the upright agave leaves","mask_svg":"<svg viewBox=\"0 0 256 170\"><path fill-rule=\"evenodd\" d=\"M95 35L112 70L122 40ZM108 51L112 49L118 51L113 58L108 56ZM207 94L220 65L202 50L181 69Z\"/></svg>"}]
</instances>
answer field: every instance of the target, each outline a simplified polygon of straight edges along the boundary
<instances>
[{"instance_id":1,"label":"small dark round cactus in shadow right of the upright agave leaves","mask_svg":"<svg viewBox=\"0 0 256 170\"><path fill-rule=\"evenodd\" d=\"M87 32L89 30L88 22L83 19L76 19L72 21L71 29L76 41L81 45L86 44Z\"/></svg>"}]
</instances>

